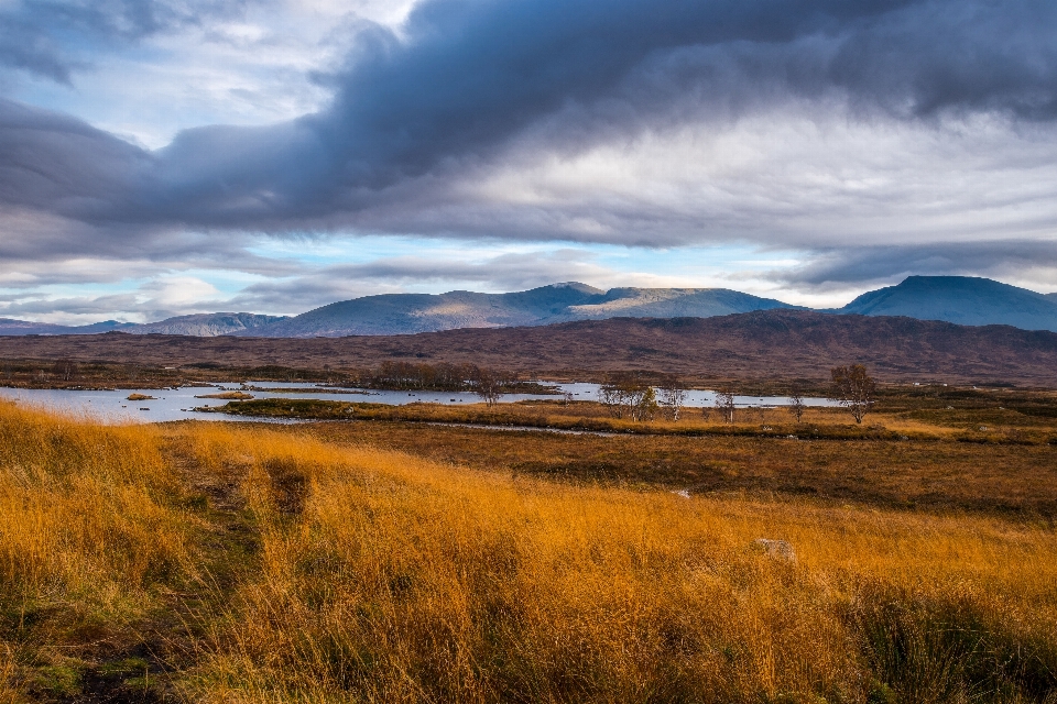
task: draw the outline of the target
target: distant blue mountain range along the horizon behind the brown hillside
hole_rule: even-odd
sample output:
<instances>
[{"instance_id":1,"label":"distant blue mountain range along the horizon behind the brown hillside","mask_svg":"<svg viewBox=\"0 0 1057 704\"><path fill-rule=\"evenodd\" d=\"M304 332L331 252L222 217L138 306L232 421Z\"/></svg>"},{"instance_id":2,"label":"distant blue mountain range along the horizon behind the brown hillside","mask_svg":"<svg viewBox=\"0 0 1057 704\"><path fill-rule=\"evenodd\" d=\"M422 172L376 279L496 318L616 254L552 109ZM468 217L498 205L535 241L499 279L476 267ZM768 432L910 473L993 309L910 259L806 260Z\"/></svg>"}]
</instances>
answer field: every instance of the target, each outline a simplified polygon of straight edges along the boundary
<instances>
[{"instance_id":1,"label":"distant blue mountain range along the horizon behind the brown hillside","mask_svg":"<svg viewBox=\"0 0 1057 704\"><path fill-rule=\"evenodd\" d=\"M67 327L0 319L0 336L133 334L317 338L414 334L462 328L546 326L608 318L711 318L776 308L806 310L727 288L611 288L576 282L509 294L456 290L386 294L334 302L299 316L198 314L151 323L106 321ZM865 293L833 315L902 316L967 326L1007 324L1057 331L1057 294L1038 294L988 278L909 276Z\"/></svg>"}]
</instances>

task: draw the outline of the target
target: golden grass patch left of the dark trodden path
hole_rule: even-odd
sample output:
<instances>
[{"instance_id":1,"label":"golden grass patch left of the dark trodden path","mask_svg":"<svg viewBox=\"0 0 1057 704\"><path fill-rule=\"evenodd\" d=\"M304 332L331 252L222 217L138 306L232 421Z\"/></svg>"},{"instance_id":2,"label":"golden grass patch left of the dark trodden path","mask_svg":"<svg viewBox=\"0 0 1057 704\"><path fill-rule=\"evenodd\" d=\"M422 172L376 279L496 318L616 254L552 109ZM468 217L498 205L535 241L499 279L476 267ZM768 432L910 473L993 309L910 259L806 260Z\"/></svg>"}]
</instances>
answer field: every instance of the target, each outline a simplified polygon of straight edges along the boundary
<instances>
[{"instance_id":1,"label":"golden grass patch left of the dark trodden path","mask_svg":"<svg viewBox=\"0 0 1057 704\"><path fill-rule=\"evenodd\" d=\"M160 587L194 579L181 495L152 429L0 403L0 701L68 689L99 644L134 644Z\"/></svg>"}]
</instances>

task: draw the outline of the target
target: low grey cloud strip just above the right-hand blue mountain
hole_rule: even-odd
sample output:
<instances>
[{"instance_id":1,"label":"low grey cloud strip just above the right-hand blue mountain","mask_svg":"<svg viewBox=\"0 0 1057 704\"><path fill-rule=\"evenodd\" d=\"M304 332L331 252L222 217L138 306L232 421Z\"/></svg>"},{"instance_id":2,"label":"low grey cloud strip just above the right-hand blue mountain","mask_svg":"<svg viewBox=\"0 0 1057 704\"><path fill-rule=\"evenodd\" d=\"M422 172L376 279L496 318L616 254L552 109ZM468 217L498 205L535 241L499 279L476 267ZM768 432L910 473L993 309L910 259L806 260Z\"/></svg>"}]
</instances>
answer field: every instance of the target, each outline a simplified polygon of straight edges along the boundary
<instances>
[{"instance_id":1,"label":"low grey cloud strip just above the right-hand blue mountain","mask_svg":"<svg viewBox=\"0 0 1057 704\"><path fill-rule=\"evenodd\" d=\"M854 246L813 253L810 263L774 277L826 287L882 282L913 274L1028 275L1033 268L1057 270L1057 241L991 241L901 246Z\"/></svg>"}]
</instances>

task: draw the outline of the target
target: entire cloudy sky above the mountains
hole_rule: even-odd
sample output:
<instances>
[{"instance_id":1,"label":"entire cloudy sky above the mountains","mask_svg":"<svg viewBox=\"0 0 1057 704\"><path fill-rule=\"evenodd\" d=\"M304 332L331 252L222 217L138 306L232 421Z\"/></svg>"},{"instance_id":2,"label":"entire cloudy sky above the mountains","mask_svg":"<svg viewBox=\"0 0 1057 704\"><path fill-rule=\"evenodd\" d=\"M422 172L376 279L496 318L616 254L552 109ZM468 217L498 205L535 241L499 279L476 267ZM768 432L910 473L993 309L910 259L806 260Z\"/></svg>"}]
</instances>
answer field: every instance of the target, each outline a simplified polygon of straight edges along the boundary
<instances>
[{"instance_id":1,"label":"entire cloudy sky above the mountains","mask_svg":"<svg viewBox=\"0 0 1057 704\"><path fill-rule=\"evenodd\" d=\"M1057 292L1051 0L0 0L0 317Z\"/></svg>"}]
</instances>

